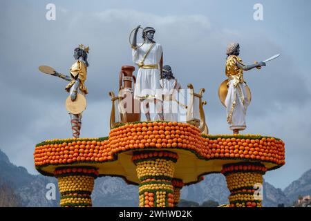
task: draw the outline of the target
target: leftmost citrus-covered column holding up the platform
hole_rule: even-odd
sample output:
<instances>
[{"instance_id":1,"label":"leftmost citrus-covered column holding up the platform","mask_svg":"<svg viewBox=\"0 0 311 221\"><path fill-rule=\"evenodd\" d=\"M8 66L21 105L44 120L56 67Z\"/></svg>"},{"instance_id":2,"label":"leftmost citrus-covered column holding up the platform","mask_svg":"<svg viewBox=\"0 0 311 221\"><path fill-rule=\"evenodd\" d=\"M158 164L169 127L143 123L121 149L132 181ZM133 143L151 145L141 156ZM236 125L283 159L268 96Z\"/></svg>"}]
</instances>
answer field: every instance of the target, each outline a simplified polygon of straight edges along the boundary
<instances>
[{"instance_id":1,"label":"leftmost citrus-covered column holding up the platform","mask_svg":"<svg viewBox=\"0 0 311 221\"><path fill-rule=\"evenodd\" d=\"M95 167L59 167L54 175L58 179L62 207L92 206L91 194L98 175Z\"/></svg>"}]
</instances>

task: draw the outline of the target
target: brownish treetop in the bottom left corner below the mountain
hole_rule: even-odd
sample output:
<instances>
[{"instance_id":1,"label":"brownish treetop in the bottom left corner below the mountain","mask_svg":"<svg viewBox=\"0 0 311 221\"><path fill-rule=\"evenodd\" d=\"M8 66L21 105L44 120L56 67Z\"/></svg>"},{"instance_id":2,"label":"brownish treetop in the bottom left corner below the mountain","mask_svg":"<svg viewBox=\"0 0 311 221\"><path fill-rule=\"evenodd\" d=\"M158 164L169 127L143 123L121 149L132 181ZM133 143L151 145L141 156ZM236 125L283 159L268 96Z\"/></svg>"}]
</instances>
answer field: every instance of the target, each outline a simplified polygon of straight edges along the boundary
<instances>
[{"instance_id":1,"label":"brownish treetop in the bottom left corner below the mountain","mask_svg":"<svg viewBox=\"0 0 311 221\"><path fill-rule=\"evenodd\" d=\"M0 207L21 206L19 196L15 193L12 186L0 180Z\"/></svg>"}]
</instances>

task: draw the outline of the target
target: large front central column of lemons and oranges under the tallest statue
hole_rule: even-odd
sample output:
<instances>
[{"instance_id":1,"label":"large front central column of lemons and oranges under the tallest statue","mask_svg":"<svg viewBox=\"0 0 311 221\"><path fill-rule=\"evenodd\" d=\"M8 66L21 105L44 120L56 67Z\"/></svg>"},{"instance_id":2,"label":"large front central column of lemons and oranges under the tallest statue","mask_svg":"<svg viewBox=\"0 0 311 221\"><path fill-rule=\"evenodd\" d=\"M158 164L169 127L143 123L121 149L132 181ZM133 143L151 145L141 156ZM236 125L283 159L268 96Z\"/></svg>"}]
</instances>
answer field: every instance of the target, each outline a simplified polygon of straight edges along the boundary
<instances>
[{"instance_id":1,"label":"large front central column of lemons and oranges under the tallest statue","mask_svg":"<svg viewBox=\"0 0 311 221\"><path fill-rule=\"evenodd\" d=\"M172 178L178 155L171 151L136 151L132 160L141 181L140 207L173 207Z\"/></svg>"}]
</instances>

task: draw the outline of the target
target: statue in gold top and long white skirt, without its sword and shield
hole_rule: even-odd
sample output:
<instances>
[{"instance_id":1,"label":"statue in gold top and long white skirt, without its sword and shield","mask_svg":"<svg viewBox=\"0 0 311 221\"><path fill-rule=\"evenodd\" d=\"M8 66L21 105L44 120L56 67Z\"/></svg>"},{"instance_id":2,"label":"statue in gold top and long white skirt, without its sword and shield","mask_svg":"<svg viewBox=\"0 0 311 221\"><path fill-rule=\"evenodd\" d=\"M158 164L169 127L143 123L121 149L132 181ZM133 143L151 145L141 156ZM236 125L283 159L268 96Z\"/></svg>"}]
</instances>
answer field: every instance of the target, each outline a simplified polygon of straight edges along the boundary
<instances>
[{"instance_id":1,"label":"statue in gold top and long white skirt, without its sword and shield","mask_svg":"<svg viewBox=\"0 0 311 221\"><path fill-rule=\"evenodd\" d=\"M262 61L245 65L242 59L238 57L239 54L240 46L238 43L231 43L227 46L225 74L228 77L228 83L225 106L227 108L227 122L234 133L246 128L245 115L250 102L250 94L247 95L247 84L244 81L243 70L265 66Z\"/></svg>"}]
</instances>

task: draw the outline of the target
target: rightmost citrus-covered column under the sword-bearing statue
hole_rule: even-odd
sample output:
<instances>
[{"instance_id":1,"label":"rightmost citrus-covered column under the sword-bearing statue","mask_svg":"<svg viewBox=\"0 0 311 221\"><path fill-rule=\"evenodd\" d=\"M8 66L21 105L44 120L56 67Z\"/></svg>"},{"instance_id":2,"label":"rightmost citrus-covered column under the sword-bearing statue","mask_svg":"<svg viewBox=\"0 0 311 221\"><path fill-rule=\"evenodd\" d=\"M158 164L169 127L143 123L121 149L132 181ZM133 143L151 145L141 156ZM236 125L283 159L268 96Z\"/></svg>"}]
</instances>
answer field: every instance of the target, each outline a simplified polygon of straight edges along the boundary
<instances>
[{"instance_id":1,"label":"rightmost citrus-covered column under the sword-bearing statue","mask_svg":"<svg viewBox=\"0 0 311 221\"><path fill-rule=\"evenodd\" d=\"M261 207L263 175L267 169L263 164L241 162L226 164L221 173L225 175L230 191L230 207Z\"/></svg>"}]
</instances>

